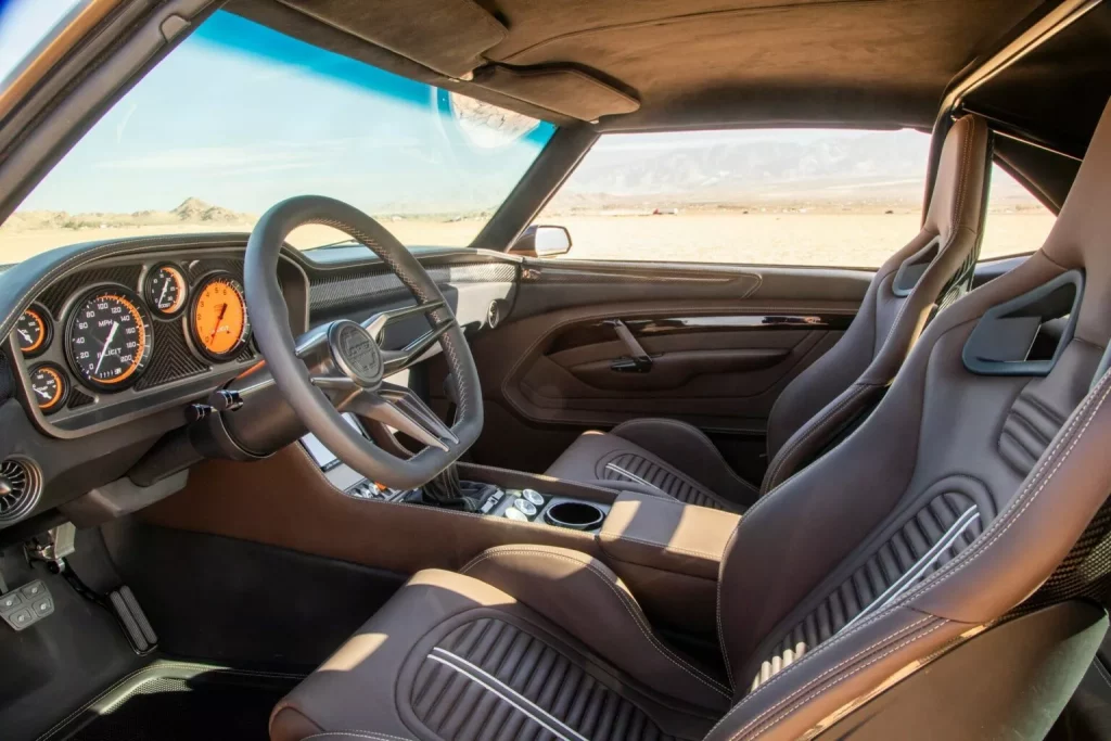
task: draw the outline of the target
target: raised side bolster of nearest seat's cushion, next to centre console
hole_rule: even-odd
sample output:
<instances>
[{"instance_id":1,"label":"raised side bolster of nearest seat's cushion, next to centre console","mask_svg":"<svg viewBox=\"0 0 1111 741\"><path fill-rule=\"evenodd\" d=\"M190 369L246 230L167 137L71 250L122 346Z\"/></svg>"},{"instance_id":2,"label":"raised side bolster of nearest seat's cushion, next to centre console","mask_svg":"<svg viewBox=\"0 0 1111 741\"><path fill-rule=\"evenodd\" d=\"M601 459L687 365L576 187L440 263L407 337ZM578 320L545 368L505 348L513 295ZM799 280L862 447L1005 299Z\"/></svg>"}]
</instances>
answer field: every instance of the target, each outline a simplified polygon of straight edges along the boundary
<instances>
[{"instance_id":1,"label":"raised side bolster of nearest seat's cushion, next to centre console","mask_svg":"<svg viewBox=\"0 0 1111 741\"><path fill-rule=\"evenodd\" d=\"M499 545L461 574L512 594L644 685L693 705L724 712L724 679L660 640L632 594L609 567L580 551Z\"/></svg>"}]
</instances>

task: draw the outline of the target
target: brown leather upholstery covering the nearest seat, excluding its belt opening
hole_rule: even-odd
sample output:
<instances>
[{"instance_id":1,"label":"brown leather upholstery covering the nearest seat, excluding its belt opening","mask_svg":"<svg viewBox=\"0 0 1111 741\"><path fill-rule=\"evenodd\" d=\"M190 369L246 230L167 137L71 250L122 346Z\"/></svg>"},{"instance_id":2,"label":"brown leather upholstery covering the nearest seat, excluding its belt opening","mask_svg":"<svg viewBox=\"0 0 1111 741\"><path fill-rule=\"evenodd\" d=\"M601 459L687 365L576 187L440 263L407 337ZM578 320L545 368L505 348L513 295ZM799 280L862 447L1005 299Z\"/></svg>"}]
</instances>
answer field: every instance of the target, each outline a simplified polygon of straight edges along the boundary
<instances>
[{"instance_id":1,"label":"brown leather upholstery covering the nearest seat, excluding its belt opening","mask_svg":"<svg viewBox=\"0 0 1111 741\"><path fill-rule=\"evenodd\" d=\"M974 640L1047 581L1111 491L1111 371L1093 378L1111 339L1109 202L1111 107L1043 250L931 322L875 411L740 518L719 574L728 712L714 712L712 671L659 645L600 565L585 555L549 564L510 545L512 557L471 569L500 588L442 572L414 577L292 693L273 719L274 738L317 728L516 738L524 721L506 720L517 711L504 691L473 675L448 687L429 665L438 645L471 657L482 641L503 648L489 649L481 665L557 715L570 728L564 738L641 738L647 728L691 738L705 713L718 717L711 741L812 738L939 652ZM1045 374L965 367L985 312L1070 270L1087 281L1078 326ZM461 628L476 617L510 628L487 640ZM518 632L508 640L504 630ZM580 672L604 689L588 700ZM420 710L429 704L434 732L432 711ZM908 738L928 738L928 729L908 729Z\"/></svg>"}]
</instances>

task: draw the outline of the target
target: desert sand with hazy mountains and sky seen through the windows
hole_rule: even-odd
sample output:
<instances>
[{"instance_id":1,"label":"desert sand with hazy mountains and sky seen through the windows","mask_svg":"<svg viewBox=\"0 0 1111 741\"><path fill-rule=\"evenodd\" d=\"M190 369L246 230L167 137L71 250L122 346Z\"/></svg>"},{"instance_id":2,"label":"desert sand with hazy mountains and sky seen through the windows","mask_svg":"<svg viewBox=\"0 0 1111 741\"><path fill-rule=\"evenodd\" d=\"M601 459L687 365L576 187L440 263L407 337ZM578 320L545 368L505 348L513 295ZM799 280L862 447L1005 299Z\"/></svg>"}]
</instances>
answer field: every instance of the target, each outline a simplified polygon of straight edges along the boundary
<instances>
[{"instance_id":1,"label":"desert sand with hazy mountains and sky seen through the windows","mask_svg":"<svg viewBox=\"0 0 1111 741\"><path fill-rule=\"evenodd\" d=\"M573 247L565 257L573 259L845 268L878 267L919 231L922 134L722 137L642 146L630 136L599 146L537 222L567 227ZM466 247L492 213L403 196L392 204L356 206L408 246ZM249 231L256 219L196 197L164 211L17 211L0 224L0 262L87 240ZM1033 251L1052 224L1044 207L994 169L984 258ZM343 239L328 227L290 236L299 249Z\"/></svg>"}]
</instances>

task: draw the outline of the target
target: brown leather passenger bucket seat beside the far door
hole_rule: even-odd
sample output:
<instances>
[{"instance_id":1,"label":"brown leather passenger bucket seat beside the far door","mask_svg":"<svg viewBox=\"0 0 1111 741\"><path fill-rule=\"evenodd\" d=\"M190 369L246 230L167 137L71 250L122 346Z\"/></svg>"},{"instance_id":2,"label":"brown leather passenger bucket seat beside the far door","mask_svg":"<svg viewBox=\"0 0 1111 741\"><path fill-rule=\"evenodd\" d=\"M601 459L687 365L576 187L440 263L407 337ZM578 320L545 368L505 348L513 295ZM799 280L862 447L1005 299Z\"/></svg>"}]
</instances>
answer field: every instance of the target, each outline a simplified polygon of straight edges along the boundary
<instances>
[{"instance_id":1,"label":"brown leather passenger bucket seat beside the far door","mask_svg":"<svg viewBox=\"0 0 1111 741\"><path fill-rule=\"evenodd\" d=\"M965 116L945 137L922 231L875 272L844 336L772 407L769 464L759 492L700 430L670 419L637 419L609 433L587 432L547 473L730 511L774 489L875 407L931 313L971 287L990 173L988 124Z\"/></svg>"}]
</instances>

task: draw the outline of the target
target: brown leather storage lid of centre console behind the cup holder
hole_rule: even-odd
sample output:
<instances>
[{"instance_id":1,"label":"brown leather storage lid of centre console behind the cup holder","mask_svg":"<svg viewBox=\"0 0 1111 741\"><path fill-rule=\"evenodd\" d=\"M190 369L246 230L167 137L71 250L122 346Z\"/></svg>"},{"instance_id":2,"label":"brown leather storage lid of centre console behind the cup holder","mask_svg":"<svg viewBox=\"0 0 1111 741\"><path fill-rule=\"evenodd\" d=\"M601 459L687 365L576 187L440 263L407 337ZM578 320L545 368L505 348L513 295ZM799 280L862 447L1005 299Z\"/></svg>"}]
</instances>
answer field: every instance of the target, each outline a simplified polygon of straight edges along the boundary
<instances>
[{"instance_id":1,"label":"brown leather storage lid of centre console behind the cup holder","mask_svg":"<svg viewBox=\"0 0 1111 741\"><path fill-rule=\"evenodd\" d=\"M717 581L725 544L740 520L731 512L623 492L598 539L609 560Z\"/></svg>"}]
</instances>

